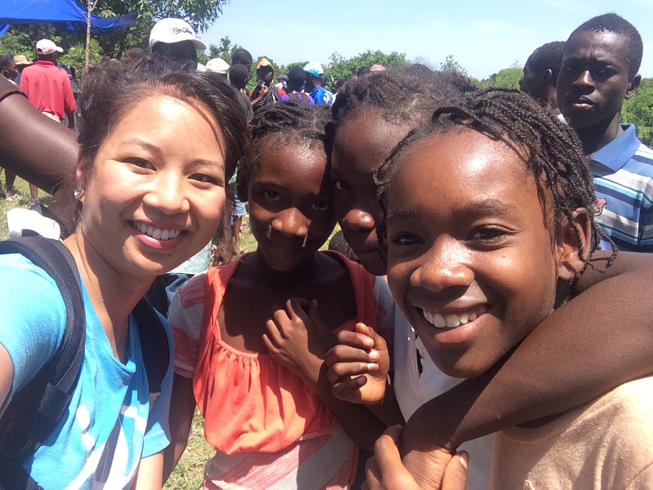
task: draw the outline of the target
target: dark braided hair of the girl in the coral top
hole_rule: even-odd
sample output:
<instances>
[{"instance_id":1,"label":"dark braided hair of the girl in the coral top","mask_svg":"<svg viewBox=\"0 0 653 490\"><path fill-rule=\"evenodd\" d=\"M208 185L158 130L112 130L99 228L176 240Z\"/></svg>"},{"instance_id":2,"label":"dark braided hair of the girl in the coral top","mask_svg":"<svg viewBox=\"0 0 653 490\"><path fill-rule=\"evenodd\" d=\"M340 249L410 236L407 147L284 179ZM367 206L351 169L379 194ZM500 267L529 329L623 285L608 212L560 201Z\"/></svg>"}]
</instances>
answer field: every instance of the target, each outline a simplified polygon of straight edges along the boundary
<instances>
[{"instance_id":1,"label":"dark braided hair of the girl in the coral top","mask_svg":"<svg viewBox=\"0 0 653 490\"><path fill-rule=\"evenodd\" d=\"M255 151L238 163L236 189L240 201L247 201L247 184L259 170L266 145L306 141L319 145L327 155L331 153L333 127L326 106L300 101L266 105L255 112L250 126Z\"/></svg>"}]
</instances>

